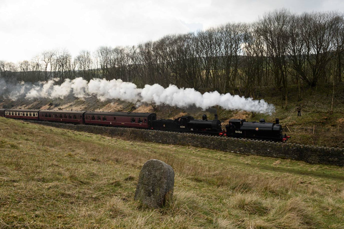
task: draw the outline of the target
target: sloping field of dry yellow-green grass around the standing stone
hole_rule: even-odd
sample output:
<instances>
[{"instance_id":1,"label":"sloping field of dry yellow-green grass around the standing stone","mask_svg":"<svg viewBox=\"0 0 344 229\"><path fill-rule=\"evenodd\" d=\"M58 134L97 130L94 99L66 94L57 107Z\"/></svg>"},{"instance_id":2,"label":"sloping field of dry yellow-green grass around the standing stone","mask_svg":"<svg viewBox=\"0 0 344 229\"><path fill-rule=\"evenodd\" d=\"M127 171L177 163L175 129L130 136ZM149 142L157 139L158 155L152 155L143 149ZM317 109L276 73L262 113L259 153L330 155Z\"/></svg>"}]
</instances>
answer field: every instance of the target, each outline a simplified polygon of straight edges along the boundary
<instances>
[{"instance_id":1,"label":"sloping field of dry yellow-green grass around the standing stone","mask_svg":"<svg viewBox=\"0 0 344 229\"><path fill-rule=\"evenodd\" d=\"M344 228L344 169L132 142L0 117L0 228ZM148 159L175 171L162 209L134 201Z\"/></svg>"}]
</instances>

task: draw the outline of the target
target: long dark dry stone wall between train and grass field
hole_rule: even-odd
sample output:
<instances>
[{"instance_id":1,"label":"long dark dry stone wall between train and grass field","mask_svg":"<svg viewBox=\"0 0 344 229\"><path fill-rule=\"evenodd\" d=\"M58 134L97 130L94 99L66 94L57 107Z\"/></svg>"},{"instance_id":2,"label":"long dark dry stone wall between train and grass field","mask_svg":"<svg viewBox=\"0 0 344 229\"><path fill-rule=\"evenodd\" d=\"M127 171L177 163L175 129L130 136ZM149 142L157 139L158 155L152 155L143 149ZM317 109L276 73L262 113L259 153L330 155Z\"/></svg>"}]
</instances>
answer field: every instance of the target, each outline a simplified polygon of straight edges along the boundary
<instances>
[{"instance_id":1,"label":"long dark dry stone wall between train and grass field","mask_svg":"<svg viewBox=\"0 0 344 229\"><path fill-rule=\"evenodd\" d=\"M162 144L184 146L190 145L194 147L202 147L246 155L293 159L305 161L312 164L321 163L333 164L338 166L344 165L344 149L334 147L317 147L282 142L205 136L148 129L73 125L40 121L30 122L75 131L84 131L93 134L128 136L133 139L157 142Z\"/></svg>"}]
</instances>

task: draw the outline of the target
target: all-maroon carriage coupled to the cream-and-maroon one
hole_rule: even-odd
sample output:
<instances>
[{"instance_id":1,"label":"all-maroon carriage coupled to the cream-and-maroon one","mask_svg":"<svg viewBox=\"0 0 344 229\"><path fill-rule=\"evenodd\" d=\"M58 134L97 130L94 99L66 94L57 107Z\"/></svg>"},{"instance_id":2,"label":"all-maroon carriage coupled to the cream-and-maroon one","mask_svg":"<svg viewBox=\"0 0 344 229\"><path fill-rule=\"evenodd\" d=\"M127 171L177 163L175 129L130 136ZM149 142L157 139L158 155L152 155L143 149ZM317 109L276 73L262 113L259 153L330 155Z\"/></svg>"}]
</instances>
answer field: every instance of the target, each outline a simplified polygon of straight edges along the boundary
<instances>
[{"instance_id":1,"label":"all-maroon carriage coupled to the cream-and-maroon one","mask_svg":"<svg viewBox=\"0 0 344 229\"><path fill-rule=\"evenodd\" d=\"M40 110L40 120L65 123L84 123L85 111Z\"/></svg>"}]
</instances>

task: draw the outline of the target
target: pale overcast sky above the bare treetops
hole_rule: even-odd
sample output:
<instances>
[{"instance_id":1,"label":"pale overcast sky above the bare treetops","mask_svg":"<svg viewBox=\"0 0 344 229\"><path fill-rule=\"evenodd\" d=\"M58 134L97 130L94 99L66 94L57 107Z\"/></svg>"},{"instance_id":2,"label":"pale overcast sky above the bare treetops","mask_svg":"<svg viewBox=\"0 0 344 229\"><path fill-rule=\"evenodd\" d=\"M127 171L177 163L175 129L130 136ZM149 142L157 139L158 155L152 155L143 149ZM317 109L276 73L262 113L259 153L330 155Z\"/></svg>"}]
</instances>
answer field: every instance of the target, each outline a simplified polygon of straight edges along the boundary
<instances>
[{"instance_id":1,"label":"pale overcast sky above the bare treetops","mask_svg":"<svg viewBox=\"0 0 344 229\"><path fill-rule=\"evenodd\" d=\"M0 0L0 60L30 60L55 48L76 56L100 45L136 45L169 33L250 22L282 7L344 11L344 0Z\"/></svg>"}]
</instances>

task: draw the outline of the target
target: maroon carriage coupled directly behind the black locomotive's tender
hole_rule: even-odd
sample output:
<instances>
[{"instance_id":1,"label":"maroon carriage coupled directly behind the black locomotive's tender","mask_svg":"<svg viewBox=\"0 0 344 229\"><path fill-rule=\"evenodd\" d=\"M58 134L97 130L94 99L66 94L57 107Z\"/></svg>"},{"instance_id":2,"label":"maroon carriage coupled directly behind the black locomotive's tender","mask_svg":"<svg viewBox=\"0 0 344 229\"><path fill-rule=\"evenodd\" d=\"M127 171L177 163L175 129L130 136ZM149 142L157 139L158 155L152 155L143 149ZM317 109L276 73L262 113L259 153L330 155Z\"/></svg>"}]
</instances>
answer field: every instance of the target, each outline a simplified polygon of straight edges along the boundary
<instances>
[{"instance_id":1,"label":"maroon carriage coupled directly behind the black locomotive's tender","mask_svg":"<svg viewBox=\"0 0 344 229\"><path fill-rule=\"evenodd\" d=\"M135 112L85 112L85 124L150 128L157 119L155 113Z\"/></svg>"}]
</instances>

